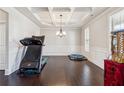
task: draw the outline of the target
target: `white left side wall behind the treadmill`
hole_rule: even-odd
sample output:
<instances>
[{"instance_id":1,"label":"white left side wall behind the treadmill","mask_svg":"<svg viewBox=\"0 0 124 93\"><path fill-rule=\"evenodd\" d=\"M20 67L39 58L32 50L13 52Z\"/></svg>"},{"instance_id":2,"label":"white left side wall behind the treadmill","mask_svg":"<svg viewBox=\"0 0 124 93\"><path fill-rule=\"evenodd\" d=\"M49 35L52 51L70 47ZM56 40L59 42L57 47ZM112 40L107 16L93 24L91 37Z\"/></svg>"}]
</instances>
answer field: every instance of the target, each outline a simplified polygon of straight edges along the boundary
<instances>
[{"instance_id":1,"label":"white left side wall behind the treadmill","mask_svg":"<svg viewBox=\"0 0 124 93\"><path fill-rule=\"evenodd\" d=\"M5 74L10 74L18 69L21 61L22 47L19 40L32 35L40 35L40 27L18 12L15 8L2 8L9 14L8 28L8 66Z\"/></svg>"}]
</instances>

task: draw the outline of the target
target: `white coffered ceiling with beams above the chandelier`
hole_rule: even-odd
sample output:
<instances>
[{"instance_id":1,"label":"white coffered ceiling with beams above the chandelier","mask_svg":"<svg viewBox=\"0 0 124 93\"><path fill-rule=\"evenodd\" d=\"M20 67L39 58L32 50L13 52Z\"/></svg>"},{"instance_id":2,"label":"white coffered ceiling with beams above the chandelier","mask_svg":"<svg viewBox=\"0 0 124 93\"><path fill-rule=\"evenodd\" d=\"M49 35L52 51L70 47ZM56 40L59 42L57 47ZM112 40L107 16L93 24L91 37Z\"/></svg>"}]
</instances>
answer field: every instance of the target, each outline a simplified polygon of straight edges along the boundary
<instances>
[{"instance_id":1,"label":"white coffered ceiling with beams above the chandelier","mask_svg":"<svg viewBox=\"0 0 124 93\"><path fill-rule=\"evenodd\" d=\"M41 27L81 27L84 20L105 11L105 7L16 7Z\"/></svg>"}]
</instances>

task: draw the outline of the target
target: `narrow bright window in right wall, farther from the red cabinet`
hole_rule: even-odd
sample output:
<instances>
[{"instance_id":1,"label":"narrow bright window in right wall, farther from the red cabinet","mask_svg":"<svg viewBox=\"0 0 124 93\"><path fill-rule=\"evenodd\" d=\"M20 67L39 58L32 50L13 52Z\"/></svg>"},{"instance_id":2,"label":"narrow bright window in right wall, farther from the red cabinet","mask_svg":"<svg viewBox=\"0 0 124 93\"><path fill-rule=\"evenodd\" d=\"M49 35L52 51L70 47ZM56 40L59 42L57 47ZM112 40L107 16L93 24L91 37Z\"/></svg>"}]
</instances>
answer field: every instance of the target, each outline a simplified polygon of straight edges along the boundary
<instances>
[{"instance_id":1,"label":"narrow bright window in right wall, farther from the red cabinet","mask_svg":"<svg viewBox=\"0 0 124 93\"><path fill-rule=\"evenodd\" d=\"M89 52L89 43L90 43L90 34L89 34L89 27L84 30L85 33L85 51Z\"/></svg>"}]
</instances>

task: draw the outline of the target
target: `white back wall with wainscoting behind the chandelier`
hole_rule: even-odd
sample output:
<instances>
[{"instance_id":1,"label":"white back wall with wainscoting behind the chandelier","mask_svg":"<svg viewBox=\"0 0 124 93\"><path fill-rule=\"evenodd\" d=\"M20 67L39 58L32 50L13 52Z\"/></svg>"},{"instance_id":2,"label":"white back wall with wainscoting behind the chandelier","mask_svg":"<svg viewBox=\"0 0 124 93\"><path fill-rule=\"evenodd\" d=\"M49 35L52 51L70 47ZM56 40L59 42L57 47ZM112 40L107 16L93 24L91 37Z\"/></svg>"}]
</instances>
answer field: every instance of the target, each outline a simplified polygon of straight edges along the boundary
<instances>
[{"instance_id":1,"label":"white back wall with wainscoting behind the chandelier","mask_svg":"<svg viewBox=\"0 0 124 93\"><path fill-rule=\"evenodd\" d=\"M69 55L80 53L80 28L64 29L67 33L65 37L56 36L57 28L41 29L41 35L45 35L45 46L43 55Z\"/></svg>"}]
</instances>

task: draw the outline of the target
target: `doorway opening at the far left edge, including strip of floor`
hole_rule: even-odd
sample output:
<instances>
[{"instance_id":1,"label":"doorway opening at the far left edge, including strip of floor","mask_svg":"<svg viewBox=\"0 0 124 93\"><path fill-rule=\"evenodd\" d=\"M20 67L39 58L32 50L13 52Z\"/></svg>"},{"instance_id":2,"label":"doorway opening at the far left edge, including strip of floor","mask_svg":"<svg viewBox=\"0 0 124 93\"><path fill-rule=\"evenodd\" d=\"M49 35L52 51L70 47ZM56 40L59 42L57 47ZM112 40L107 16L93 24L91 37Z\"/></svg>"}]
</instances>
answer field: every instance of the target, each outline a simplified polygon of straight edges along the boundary
<instances>
[{"instance_id":1,"label":"doorway opening at the far left edge, including strip of floor","mask_svg":"<svg viewBox=\"0 0 124 93\"><path fill-rule=\"evenodd\" d=\"M8 68L8 13L0 9L0 71Z\"/></svg>"}]
</instances>

